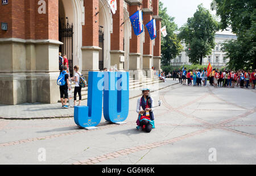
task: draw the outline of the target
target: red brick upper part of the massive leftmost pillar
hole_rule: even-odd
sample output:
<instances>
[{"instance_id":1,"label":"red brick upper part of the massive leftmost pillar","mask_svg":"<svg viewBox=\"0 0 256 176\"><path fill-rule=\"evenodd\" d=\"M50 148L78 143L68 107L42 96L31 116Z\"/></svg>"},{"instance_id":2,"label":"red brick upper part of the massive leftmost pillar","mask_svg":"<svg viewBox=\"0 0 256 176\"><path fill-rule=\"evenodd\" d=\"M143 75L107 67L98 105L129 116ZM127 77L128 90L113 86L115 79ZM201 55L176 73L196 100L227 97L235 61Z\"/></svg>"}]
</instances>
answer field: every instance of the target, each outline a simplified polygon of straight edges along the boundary
<instances>
[{"instance_id":1,"label":"red brick upper part of the massive leftmost pillar","mask_svg":"<svg viewBox=\"0 0 256 176\"><path fill-rule=\"evenodd\" d=\"M59 39L59 1L45 0L46 14L38 13L38 0L13 0L0 5L0 22L8 23L8 31L0 38Z\"/></svg>"}]
</instances>

